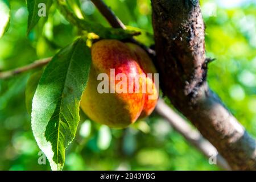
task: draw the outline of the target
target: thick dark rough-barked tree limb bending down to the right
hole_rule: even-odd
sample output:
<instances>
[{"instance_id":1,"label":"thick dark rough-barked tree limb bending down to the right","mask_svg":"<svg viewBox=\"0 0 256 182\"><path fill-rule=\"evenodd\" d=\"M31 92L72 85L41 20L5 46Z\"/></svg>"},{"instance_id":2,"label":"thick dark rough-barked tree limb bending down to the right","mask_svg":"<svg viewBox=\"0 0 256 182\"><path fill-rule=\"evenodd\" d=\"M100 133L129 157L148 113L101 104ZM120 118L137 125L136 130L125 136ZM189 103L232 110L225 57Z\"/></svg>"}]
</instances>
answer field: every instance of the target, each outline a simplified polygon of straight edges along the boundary
<instances>
[{"instance_id":1,"label":"thick dark rough-barked tree limb bending down to the right","mask_svg":"<svg viewBox=\"0 0 256 182\"><path fill-rule=\"evenodd\" d=\"M256 169L255 140L207 84L204 22L198 0L151 0L156 65L164 94L228 161Z\"/></svg>"}]
</instances>

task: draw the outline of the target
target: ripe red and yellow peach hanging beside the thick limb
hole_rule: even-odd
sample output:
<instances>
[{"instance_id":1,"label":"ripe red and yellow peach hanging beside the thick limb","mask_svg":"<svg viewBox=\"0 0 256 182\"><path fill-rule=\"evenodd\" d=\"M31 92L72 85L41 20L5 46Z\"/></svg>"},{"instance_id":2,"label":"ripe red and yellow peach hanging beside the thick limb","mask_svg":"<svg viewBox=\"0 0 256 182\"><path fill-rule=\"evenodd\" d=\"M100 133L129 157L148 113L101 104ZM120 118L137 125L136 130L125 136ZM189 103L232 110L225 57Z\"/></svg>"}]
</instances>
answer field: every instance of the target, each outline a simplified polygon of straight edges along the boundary
<instances>
[{"instance_id":1,"label":"ripe red and yellow peach hanging beside the thick limb","mask_svg":"<svg viewBox=\"0 0 256 182\"><path fill-rule=\"evenodd\" d=\"M151 114L158 92L153 79L145 75L156 73L147 53L135 44L118 40L100 40L92 45L91 53L92 66L80 102L84 113L93 121L117 129ZM152 86L154 100L142 92L143 82Z\"/></svg>"}]
</instances>

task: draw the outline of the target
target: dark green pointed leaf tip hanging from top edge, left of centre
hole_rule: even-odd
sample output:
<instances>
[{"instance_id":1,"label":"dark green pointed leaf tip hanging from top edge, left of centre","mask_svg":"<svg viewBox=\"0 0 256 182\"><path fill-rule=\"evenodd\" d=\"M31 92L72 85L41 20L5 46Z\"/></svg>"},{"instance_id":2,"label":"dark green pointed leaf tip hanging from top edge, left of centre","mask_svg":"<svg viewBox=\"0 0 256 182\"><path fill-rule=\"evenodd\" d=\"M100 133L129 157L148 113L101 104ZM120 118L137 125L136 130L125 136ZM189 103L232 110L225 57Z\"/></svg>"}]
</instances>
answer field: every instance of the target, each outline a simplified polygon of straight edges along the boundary
<instances>
[{"instance_id":1,"label":"dark green pointed leaf tip hanging from top edge, left of centre","mask_svg":"<svg viewBox=\"0 0 256 182\"><path fill-rule=\"evenodd\" d=\"M48 16L52 0L27 0L28 22L27 34L36 26L40 18Z\"/></svg>"}]
</instances>

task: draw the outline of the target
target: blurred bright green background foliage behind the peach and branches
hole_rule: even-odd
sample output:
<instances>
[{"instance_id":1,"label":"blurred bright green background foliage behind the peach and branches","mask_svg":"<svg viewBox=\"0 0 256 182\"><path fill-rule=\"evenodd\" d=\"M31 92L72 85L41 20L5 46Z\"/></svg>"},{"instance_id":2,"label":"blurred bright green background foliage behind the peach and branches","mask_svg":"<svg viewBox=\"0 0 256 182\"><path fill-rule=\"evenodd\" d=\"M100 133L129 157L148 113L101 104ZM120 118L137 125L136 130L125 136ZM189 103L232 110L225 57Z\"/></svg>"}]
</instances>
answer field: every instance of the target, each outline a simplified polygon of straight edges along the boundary
<instances>
[{"instance_id":1,"label":"blurred bright green background foliage behind the peach and branches","mask_svg":"<svg viewBox=\"0 0 256 182\"><path fill-rule=\"evenodd\" d=\"M43 26L27 36L26 4L11 0L9 30L0 39L0 71L55 55L76 39L71 26L54 6ZM143 30L139 40L152 42L150 0L105 1L131 29ZM206 30L209 85L256 137L256 5L254 1L201 1ZM86 19L109 26L93 3L81 1ZM0 17L2 18L2 17ZM139 28L139 29L138 29ZM0 80L0 170L49 170L39 165L39 148L31 131L25 90L31 71ZM81 113L77 136L67 150L64 170L217 170L167 122L152 114L125 130L112 130Z\"/></svg>"}]
</instances>

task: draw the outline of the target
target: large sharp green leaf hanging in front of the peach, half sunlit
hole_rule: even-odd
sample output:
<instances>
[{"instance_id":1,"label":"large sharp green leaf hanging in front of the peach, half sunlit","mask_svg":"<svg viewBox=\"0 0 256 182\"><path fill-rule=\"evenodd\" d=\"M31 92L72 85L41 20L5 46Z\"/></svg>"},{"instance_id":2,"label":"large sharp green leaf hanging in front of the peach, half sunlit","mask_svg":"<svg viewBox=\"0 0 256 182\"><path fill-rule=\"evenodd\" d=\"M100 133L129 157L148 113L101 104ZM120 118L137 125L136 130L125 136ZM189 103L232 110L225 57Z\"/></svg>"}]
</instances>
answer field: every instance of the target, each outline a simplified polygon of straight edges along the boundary
<instances>
[{"instance_id":1,"label":"large sharp green leaf hanging in front of the peach, half sunlit","mask_svg":"<svg viewBox=\"0 0 256 182\"><path fill-rule=\"evenodd\" d=\"M65 148L75 137L90 62L90 49L79 39L53 57L36 89L32 131L52 170L63 168Z\"/></svg>"}]
</instances>

